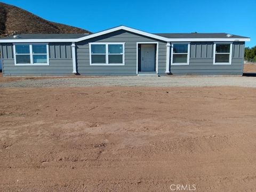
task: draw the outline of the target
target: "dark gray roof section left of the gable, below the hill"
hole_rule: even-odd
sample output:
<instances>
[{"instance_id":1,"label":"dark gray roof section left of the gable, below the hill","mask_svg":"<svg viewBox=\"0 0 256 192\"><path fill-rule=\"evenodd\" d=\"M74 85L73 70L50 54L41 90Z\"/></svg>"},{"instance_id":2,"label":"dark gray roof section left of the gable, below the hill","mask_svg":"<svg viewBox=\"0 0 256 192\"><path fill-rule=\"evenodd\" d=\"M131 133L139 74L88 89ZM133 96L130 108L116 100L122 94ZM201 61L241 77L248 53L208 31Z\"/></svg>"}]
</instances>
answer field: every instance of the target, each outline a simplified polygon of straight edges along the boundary
<instances>
[{"instance_id":1,"label":"dark gray roof section left of the gable, below the hill","mask_svg":"<svg viewBox=\"0 0 256 192\"><path fill-rule=\"evenodd\" d=\"M3 37L2 39L69 39L80 38L90 34L21 34L17 38L13 36Z\"/></svg>"}]
</instances>

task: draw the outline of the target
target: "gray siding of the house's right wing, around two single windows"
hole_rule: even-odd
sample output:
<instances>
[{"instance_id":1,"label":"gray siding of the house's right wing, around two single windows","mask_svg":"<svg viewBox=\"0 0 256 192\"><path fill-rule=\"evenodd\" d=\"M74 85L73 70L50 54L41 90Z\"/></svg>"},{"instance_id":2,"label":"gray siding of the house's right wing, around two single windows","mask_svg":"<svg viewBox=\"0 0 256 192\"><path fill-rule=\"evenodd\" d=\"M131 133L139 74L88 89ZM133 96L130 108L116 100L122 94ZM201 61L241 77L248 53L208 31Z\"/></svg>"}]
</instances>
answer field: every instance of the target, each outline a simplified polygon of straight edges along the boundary
<instances>
[{"instance_id":1,"label":"gray siding of the house's right wing, around two single windows","mask_svg":"<svg viewBox=\"0 0 256 192\"><path fill-rule=\"evenodd\" d=\"M213 42L191 42L189 65L170 65L173 75L242 75L244 42L233 42L231 65L213 65Z\"/></svg>"}]
</instances>

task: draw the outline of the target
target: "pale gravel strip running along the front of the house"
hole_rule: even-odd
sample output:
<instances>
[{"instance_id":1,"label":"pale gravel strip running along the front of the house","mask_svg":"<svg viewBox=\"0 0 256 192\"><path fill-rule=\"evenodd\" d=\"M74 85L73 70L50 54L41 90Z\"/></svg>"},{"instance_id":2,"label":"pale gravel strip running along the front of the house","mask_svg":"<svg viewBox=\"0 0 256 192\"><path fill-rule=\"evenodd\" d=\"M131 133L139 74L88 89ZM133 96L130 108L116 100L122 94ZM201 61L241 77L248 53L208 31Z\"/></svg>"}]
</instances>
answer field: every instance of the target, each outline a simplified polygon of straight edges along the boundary
<instances>
[{"instance_id":1,"label":"pale gravel strip running along the front of the house","mask_svg":"<svg viewBox=\"0 0 256 192\"><path fill-rule=\"evenodd\" d=\"M83 86L241 86L256 87L256 77L79 77L35 78L0 82L0 87L83 87Z\"/></svg>"}]
</instances>

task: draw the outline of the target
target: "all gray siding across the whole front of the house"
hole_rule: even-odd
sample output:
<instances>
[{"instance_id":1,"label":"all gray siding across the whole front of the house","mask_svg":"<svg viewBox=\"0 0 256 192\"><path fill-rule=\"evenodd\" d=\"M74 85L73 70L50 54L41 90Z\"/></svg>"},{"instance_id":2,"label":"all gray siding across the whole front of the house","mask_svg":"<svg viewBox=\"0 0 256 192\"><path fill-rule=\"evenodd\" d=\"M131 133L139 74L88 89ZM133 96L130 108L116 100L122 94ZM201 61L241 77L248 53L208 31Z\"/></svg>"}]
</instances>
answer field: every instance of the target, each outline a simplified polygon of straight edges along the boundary
<instances>
[{"instance_id":1,"label":"all gray siding across the whole front of the house","mask_svg":"<svg viewBox=\"0 0 256 192\"><path fill-rule=\"evenodd\" d=\"M124 66L90 66L89 43L125 43ZM158 74L166 75L166 42L118 30L76 43L77 72L81 75L137 75L137 43L158 43ZM214 42L191 42L189 65L171 65L173 75L242 75L244 42L233 42L231 65L213 65ZM13 44L0 44L4 76L67 76L73 75L71 43L49 43L49 66L15 66ZM171 53L170 53L171 57Z\"/></svg>"}]
</instances>

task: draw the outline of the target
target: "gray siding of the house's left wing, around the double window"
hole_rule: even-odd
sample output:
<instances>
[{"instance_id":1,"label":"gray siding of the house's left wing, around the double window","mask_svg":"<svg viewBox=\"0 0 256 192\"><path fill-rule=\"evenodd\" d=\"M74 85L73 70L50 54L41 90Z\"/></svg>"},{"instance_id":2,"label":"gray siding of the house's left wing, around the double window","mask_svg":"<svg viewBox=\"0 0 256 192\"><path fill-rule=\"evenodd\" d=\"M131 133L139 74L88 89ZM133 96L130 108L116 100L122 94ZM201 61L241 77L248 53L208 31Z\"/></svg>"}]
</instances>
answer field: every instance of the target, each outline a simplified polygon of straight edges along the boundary
<instances>
[{"instance_id":1,"label":"gray siding of the house's left wing, around the double window","mask_svg":"<svg viewBox=\"0 0 256 192\"><path fill-rule=\"evenodd\" d=\"M49 43L49 66L15 66L13 44L1 44L4 76L73 75L71 43Z\"/></svg>"}]
</instances>

